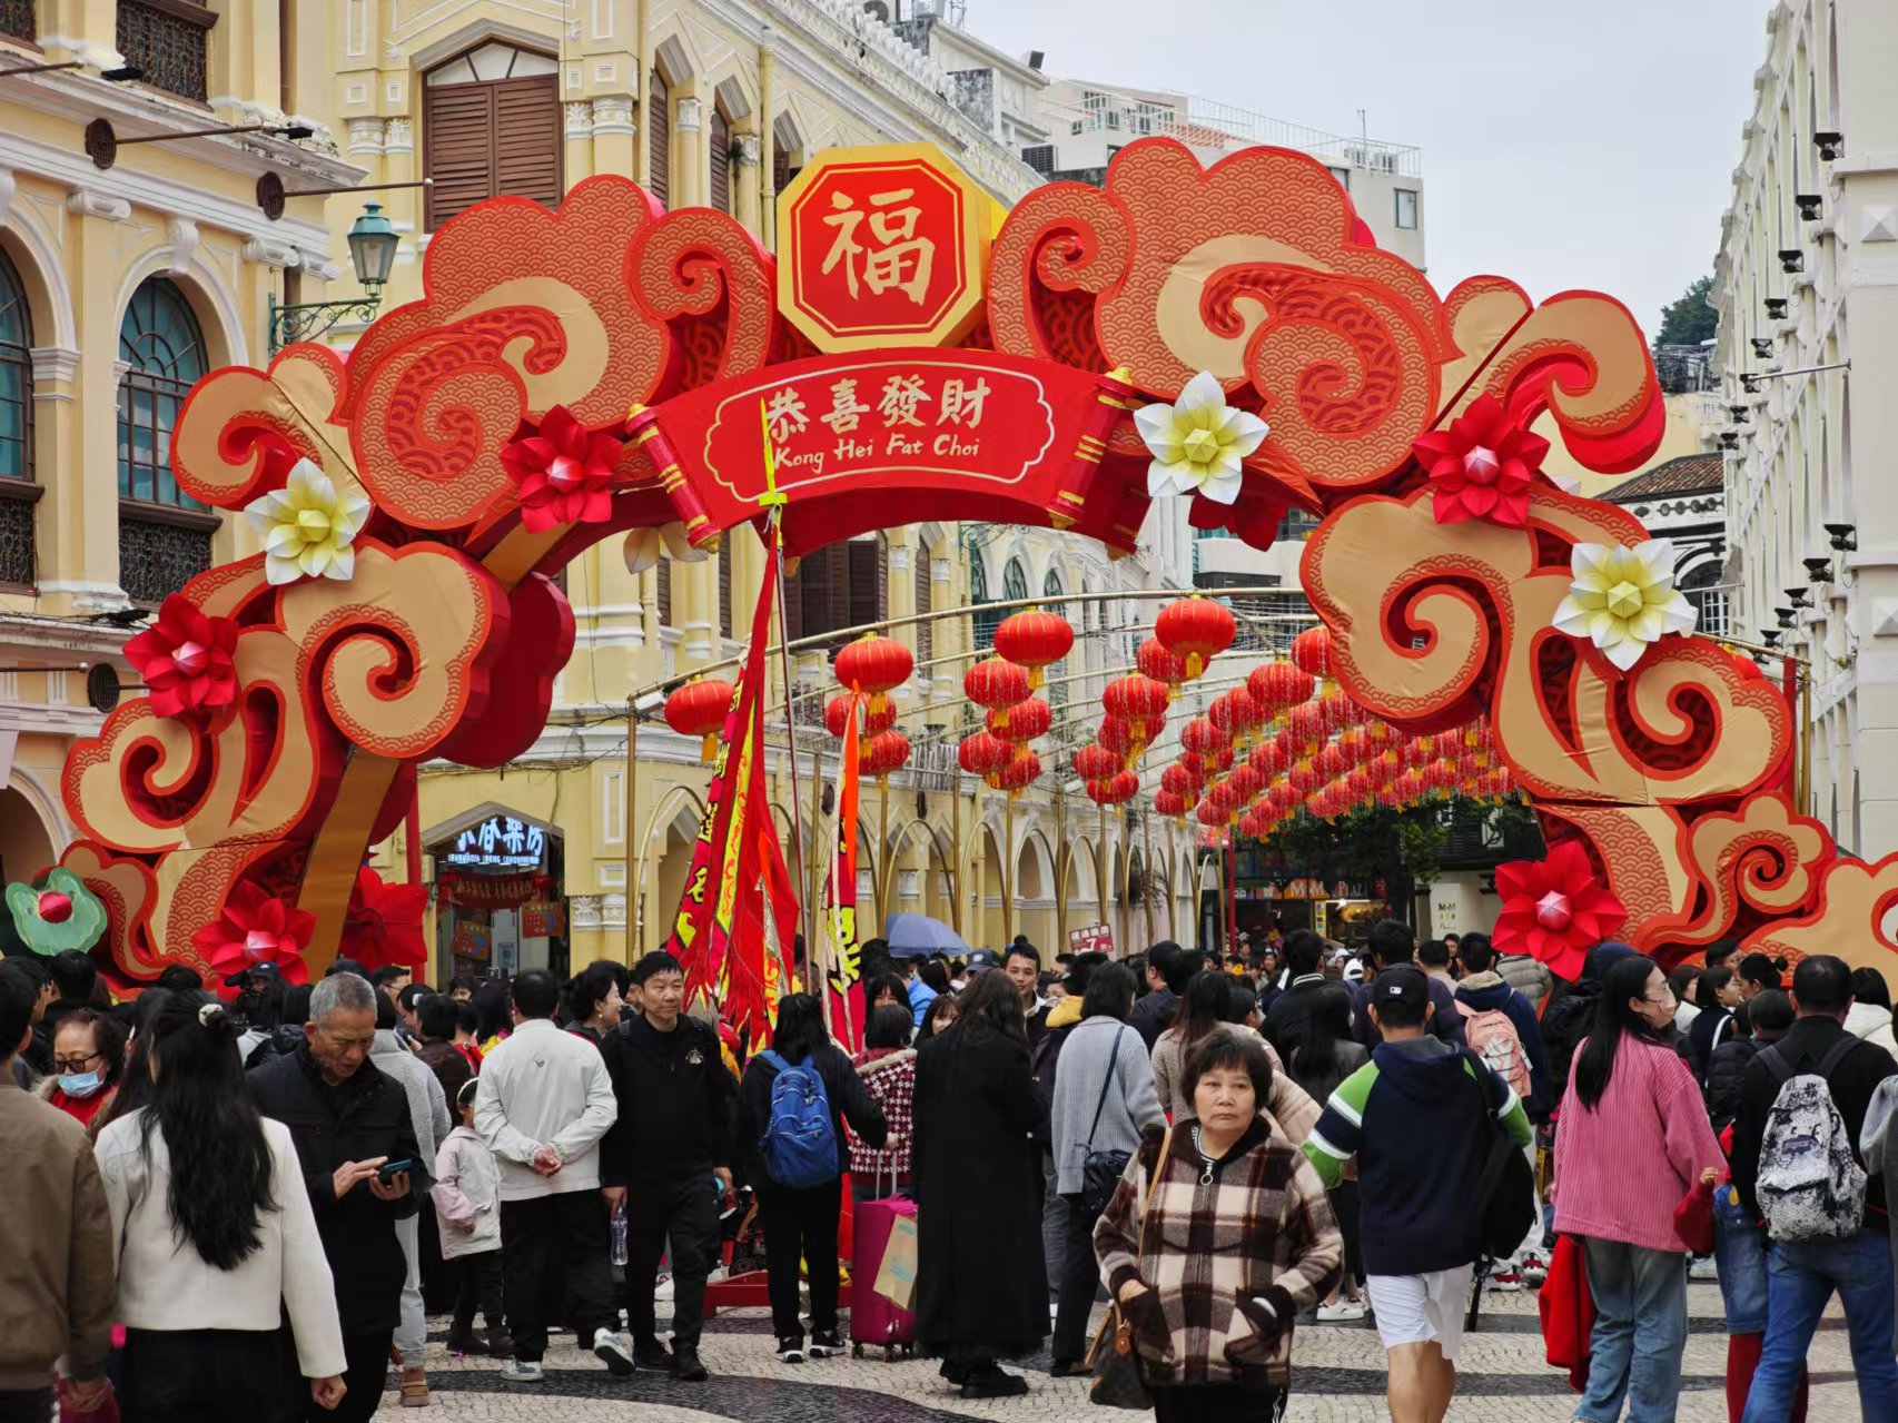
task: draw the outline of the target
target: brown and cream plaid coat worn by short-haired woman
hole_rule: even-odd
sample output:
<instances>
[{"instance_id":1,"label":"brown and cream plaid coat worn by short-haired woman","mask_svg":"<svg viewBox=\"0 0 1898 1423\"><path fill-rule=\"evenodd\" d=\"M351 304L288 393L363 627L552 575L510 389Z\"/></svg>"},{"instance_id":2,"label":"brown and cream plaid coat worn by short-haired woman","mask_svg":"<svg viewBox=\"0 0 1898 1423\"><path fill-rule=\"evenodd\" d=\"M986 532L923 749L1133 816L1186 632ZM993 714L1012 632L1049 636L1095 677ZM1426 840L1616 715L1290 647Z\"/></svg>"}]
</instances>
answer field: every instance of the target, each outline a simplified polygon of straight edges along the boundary
<instances>
[{"instance_id":1,"label":"brown and cream plaid coat worn by short-haired woman","mask_svg":"<svg viewBox=\"0 0 1898 1423\"><path fill-rule=\"evenodd\" d=\"M1207 1163L1192 1127L1175 1127L1150 1207L1160 1138L1143 1140L1127 1161L1093 1229L1101 1273L1116 1298L1127 1281L1158 1296L1169 1345L1158 1358L1143 1347L1150 1383L1285 1387L1291 1328L1268 1347L1239 1300L1281 1288L1296 1311L1325 1296L1344 1260L1330 1199L1298 1148L1264 1119L1255 1119L1201 1182Z\"/></svg>"}]
</instances>

